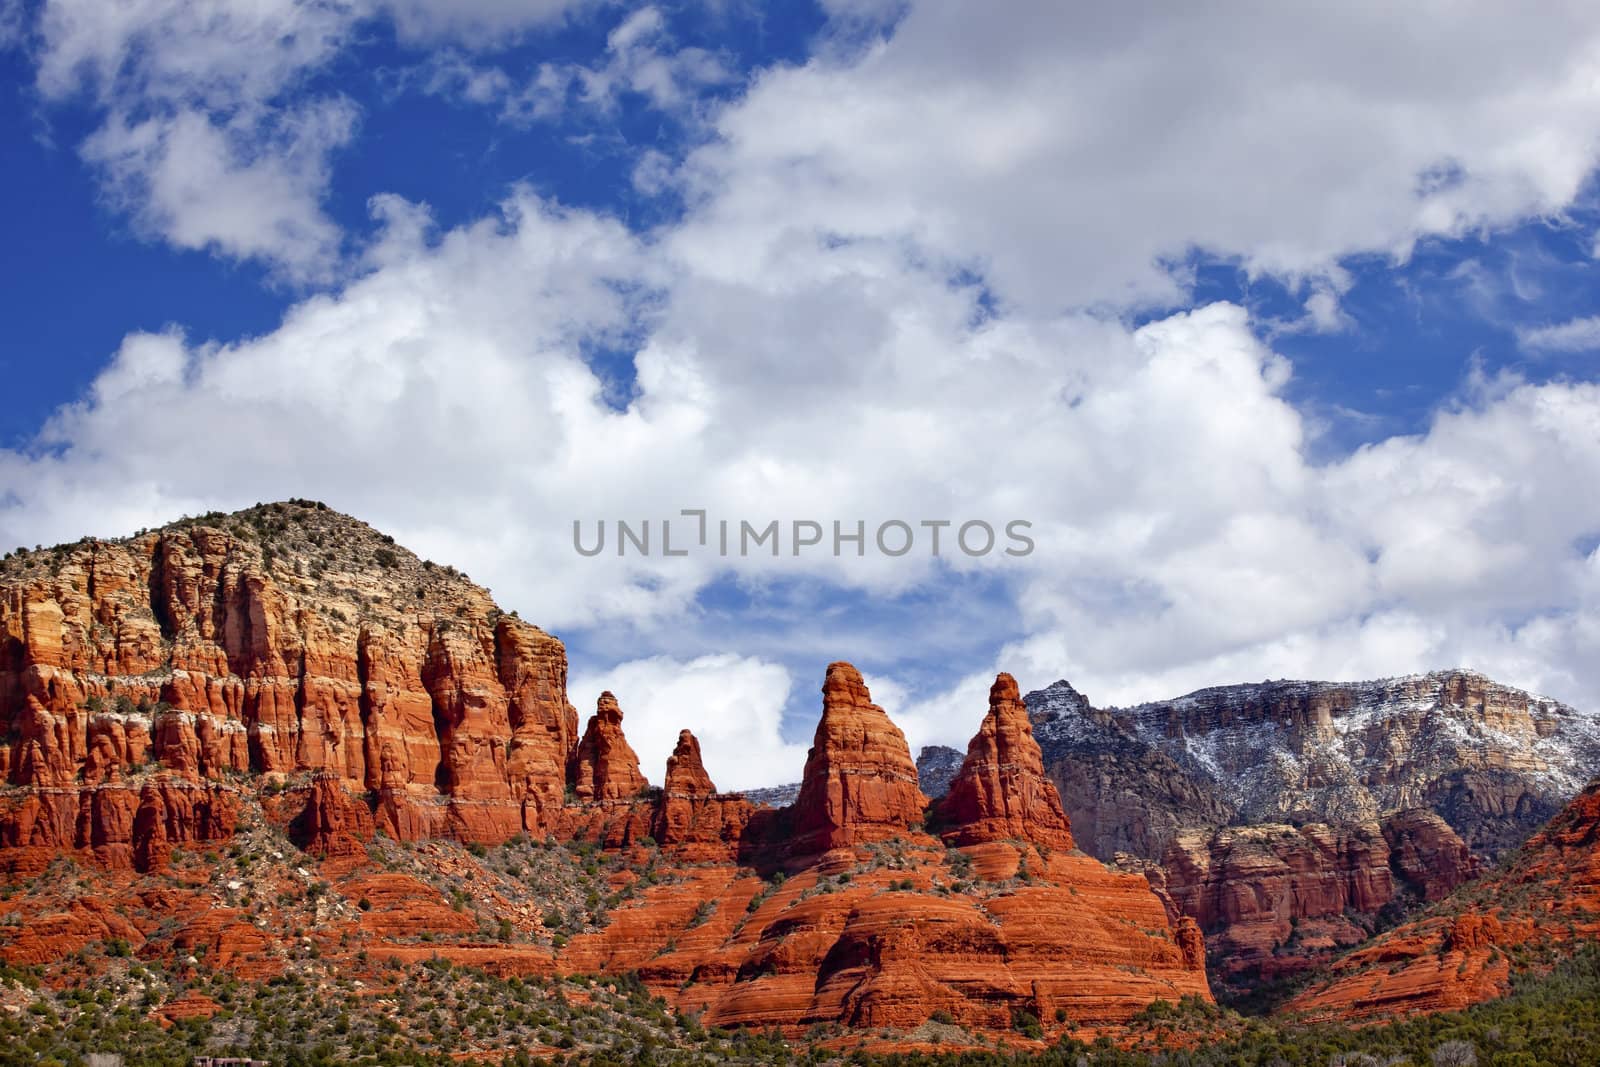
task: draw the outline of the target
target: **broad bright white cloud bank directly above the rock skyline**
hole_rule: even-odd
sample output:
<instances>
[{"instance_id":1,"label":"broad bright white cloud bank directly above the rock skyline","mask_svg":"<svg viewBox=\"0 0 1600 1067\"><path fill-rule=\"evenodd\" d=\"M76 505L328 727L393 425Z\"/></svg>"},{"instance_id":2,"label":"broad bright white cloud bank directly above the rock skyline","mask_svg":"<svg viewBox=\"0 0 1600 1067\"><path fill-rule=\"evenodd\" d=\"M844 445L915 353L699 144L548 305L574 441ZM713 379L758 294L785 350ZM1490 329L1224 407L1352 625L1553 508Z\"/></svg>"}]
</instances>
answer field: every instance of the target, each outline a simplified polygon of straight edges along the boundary
<instances>
[{"instance_id":1,"label":"broad bright white cloud bank directly above the rock skyline","mask_svg":"<svg viewBox=\"0 0 1600 1067\"><path fill-rule=\"evenodd\" d=\"M629 627L648 659L664 633L698 625L693 598L720 568L578 560L571 518L686 506L754 520L1019 515L1038 541L1027 560L728 566L750 582L789 574L886 593L987 569L1013 617L950 598L936 603L968 614L938 624L968 632L979 657L992 633L1029 633L994 667L1024 685L1069 675L1098 699L1458 656L1504 664L1510 681L1549 678L1558 696L1600 694L1574 637L1594 625L1592 595L1574 592L1594 563L1574 545L1600 530L1600 504L1581 491L1600 478L1597 387L1485 381L1426 435L1318 467L1280 395L1290 366L1227 304L1133 333L1085 317L974 326L973 293L891 248L795 248L784 272L730 288L530 194L442 235L411 205L376 206L390 234L370 277L261 338L133 336L51 421L43 451L0 453L16 501L0 510L0 542L317 496L464 565L557 632ZM656 296L638 304L643 293ZM651 330L638 397L616 411L579 350L637 322ZM728 675L717 685L730 693L760 678L749 701L765 715L760 774L787 781L779 686L750 673L752 659L774 661L739 653L738 633L722 640L733 646L710 651L730 656L650 661L614 688L634 709L680 670L696 686ZM915 645L917 627L882 640ZM942 696L893 672L872 683L914 749L960 747L990 678ZM685 693L653 704L666 710L650 745L685 725L747 728L690 713ZM650 766L659 758L651 749Z\"/></svg>"}]
</instances>

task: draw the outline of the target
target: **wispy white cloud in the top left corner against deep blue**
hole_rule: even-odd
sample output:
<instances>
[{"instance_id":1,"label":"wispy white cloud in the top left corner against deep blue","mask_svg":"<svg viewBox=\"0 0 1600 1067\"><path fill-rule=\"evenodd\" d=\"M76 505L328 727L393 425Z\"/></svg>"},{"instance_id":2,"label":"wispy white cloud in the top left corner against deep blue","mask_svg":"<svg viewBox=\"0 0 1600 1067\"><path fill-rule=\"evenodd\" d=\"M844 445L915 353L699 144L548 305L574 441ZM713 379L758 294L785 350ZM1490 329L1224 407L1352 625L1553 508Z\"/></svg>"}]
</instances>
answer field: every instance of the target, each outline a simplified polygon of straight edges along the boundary
<instances>
[{"instance_id":1,"label":"wispy white cloud in the top left corner against deep blue","mask_svg":"<svg viewBox=\"0 0 1600 1067\"><path fill-rule=\"evenodd\" d=\"M278 96L347 43L349 5L51 0L38 27L38 88L98 102L82 155L141 234L298 282L330 274L341 237L322 197L357 112Z\"/></svg>"}]
</instances>

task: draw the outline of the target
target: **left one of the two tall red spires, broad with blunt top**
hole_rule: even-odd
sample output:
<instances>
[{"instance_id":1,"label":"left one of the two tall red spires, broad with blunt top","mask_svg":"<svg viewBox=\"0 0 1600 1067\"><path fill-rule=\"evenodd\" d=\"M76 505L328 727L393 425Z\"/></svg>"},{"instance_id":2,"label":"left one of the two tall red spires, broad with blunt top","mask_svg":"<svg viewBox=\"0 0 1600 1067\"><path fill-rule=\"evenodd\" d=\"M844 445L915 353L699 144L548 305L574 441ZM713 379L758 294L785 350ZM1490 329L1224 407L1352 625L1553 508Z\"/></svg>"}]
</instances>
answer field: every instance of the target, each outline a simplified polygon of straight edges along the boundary
<instances>
[{"instance_id":1,"label":"left one of the two tall red spires, broad with blunt top","mask_svg":"<svg viewBox=\"0 0 1600 1067\"><path fill-rule=\"evenodd\" d=\"M906 734L872 702L859 670L829 664L822 720L794 803L790 851L814 854L904 833L922 821L926 803Z\"/></svg>"}]
</instances>

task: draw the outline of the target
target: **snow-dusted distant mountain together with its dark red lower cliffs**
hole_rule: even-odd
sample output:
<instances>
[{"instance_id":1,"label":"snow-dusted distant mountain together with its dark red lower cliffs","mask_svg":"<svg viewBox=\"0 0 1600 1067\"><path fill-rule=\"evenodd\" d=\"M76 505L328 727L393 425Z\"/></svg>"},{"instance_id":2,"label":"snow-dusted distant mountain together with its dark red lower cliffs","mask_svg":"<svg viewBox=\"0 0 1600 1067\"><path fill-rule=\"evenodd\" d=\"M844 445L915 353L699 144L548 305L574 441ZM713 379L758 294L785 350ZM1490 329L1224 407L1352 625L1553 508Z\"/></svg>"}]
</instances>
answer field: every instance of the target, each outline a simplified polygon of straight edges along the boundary
<instances>
[{"instance_id":1,"label":"snow-dusted distant mountain together with its dark red lower cliffs","mask_svg":"<svg viewBox=\"0 0 1600 1067\"><path fill-rule=\"evenodd\" d=\"M1600 718L1467 670L1026 702L1078 845L1200 923L1222 993L1440 899L1600 773Z\"/></svg>"}]
</instances>

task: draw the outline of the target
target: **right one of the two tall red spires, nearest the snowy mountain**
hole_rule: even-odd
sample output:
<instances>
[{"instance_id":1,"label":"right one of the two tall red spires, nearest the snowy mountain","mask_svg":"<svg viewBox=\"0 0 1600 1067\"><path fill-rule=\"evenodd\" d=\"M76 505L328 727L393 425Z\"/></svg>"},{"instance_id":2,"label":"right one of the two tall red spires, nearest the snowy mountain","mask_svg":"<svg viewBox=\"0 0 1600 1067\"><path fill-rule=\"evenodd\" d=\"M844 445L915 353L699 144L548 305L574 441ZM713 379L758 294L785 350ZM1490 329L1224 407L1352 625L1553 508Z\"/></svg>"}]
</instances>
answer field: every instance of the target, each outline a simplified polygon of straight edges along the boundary
<instances>
[{"instance_id":1,"label":"right one of the two tall red spires, nearest the snowy mountain","mask_svg":"<svg viewBox=\"0 0 1600 1067\"><path fill-rule=\"evenodd\" d=\"M939 805L939 821L952 845L1013 838L1072 848L1061 797L1045 776L1027 709L1008 673L989 689L989 713L966 745L966 760Z\"/></svg>"}]
</instances>

